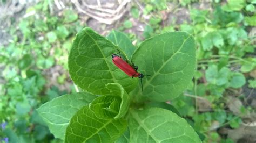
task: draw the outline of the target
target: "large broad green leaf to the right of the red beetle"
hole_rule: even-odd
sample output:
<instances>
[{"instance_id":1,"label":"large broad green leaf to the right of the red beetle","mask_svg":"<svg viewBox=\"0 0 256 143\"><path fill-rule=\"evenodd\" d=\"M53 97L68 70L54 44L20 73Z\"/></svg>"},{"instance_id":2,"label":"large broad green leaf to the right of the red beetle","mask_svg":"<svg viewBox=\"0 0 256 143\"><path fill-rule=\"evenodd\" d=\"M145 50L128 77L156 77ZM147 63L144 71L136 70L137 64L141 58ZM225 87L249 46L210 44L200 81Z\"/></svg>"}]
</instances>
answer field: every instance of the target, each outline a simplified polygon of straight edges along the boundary
<instances>
[{"instance_id":1,"label":"large broad green leaf to the right of the red beetle","mask_svg":"<svg viewBox=\"0 0 256 143\"><path fill-rule=\"evenodd\" d=\"M192 80L195 51L194 38L186 32L159 34L142 42L132 61L140 73L150 76L142 79L143 92L137 89L134 98L164 102L178 97Z\"/></svg>"}]
</instances>

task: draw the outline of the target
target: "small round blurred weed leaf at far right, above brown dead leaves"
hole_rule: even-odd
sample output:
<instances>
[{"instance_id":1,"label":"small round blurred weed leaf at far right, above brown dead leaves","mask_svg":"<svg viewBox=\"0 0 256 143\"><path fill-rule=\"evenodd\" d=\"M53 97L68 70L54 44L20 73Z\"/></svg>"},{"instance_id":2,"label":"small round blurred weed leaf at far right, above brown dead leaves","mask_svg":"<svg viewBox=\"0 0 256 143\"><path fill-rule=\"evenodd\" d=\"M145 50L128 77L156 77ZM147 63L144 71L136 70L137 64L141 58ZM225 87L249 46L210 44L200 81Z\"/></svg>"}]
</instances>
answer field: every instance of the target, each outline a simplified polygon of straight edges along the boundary
<instances>
[{"instance_id":1,"label":"small round blurred weed leaf at far right, above brown dead leaves","mask_svg":"<svg viewBox=\"0 0 256 143\"><path fill-rule=\"evenodd\" d=\"M233 77L230 81L230 87L232 88L240 88L245 85L245 76L241 73L233 73Z\"/></svg>"}]
</instances>

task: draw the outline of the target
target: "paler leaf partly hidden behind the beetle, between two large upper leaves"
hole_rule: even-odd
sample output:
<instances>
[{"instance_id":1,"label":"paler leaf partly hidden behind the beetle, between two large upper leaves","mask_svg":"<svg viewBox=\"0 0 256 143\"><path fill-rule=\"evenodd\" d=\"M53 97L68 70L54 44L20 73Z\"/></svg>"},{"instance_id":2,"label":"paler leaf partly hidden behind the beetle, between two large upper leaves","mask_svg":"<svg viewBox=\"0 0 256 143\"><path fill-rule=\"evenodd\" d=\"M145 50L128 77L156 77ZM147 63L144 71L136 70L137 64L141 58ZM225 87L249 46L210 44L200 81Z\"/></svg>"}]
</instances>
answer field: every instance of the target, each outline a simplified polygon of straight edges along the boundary
<instances>
[{"instance_id":1,"label":"paler leaf partly hidden behind the beetle, between two large upper leaves","mask_svg":"<svg viewBox=\"0 0 256 143\"><path fill-rule=\"evenodd\" d=\"M133 46L131 40L124 33L113 30L111 33L109 33L109 35L107 35L106 38L122 49L122 51L124 51L124 53L127 55L128 59L131 59L136 47Z\"/></svg>"}]
</instances>

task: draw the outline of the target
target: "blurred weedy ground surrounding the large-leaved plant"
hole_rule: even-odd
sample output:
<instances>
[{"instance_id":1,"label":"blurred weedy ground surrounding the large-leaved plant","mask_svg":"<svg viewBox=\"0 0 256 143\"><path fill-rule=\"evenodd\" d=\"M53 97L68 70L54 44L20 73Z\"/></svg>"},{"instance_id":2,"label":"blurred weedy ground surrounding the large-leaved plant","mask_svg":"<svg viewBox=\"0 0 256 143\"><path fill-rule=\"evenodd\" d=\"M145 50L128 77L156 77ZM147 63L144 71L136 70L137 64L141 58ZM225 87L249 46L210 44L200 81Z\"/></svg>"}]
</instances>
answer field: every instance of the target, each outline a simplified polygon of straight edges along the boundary
<instances>
[{"instance_id":1,"label":"blurred weedy ground surrounding the large-leaved plant","mask_svg":"<svg viewBox=\"0 0 256 143\"><path fill-rule=\"evenodd\" d=\"M35 109L76 92L67 59L85 26L102 35L122 31L136 46L163 32L194 35L196 74L170 104L203 142L256 141L255 0L135 0L112 24L85 15L72 2L0 2L0 142L62 142Z\"/></svg>"}]
</instances>

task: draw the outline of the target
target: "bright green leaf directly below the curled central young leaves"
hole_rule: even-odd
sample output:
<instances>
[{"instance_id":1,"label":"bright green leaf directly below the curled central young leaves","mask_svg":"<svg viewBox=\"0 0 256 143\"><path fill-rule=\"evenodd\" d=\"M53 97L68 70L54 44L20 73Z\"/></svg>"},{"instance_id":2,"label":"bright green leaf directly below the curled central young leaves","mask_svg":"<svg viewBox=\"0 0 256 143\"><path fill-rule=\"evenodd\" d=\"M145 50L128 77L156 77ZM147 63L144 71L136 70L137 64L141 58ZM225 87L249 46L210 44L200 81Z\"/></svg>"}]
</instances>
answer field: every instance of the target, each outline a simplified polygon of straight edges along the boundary
<instances>
[{"instance_id":1,"label":"bright green leaf directly below the curled central young leaves","mask_svg":"<svg viewBox=\"0 0 256 143\"><path fill-rule=\"evenodd\" d=\"M99 119L84 106L70 120L64 142L114 142L126 128L126 120Z\"/></svg>"}]
</instances>

